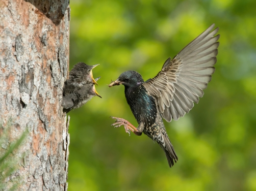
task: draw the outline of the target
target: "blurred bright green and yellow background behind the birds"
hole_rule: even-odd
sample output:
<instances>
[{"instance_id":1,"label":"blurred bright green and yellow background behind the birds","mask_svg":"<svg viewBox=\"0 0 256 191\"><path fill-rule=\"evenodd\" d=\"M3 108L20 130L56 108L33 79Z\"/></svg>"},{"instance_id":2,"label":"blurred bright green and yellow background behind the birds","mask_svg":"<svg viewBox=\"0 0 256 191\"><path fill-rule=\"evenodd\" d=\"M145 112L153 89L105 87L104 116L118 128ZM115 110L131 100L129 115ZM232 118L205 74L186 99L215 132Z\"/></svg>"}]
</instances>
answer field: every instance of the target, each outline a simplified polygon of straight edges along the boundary
<instances>
[{"instance_id":1,"label":"blurred bright green and yellow background behind the birds","mask_svg":"<svg viewBox=\"0 0 256 191\"><path fill-rule=\"evenodd\" d=\"M72 0L70 69L79 61L101 76L94 97L71 111L68 188L74 190L256 190L256 1ZM194 108L165 121L178 155L169 169L151 139L114 129L109 116L137 125L126 70L154 77L204 29L220 28L216 72Z\"/></svg>"}]
</instances>

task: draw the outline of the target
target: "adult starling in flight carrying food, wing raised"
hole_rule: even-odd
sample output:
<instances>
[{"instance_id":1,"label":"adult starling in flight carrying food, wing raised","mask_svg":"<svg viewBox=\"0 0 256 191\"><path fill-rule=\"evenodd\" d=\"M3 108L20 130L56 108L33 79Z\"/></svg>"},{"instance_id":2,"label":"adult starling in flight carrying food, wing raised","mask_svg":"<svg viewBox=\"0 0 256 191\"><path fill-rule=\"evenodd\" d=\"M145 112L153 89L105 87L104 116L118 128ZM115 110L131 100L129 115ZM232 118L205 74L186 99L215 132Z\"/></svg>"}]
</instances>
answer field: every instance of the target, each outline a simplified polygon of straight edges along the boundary
<instances>
[{"instance_id":1,"label":"adult starling in flight carrying food, wing raised","mask_svg":"<svg viewBox=\"0 0 256 191\"><path fill-rule=\"evenodd\" d=\"M114 85L124 85L127 103L139 124L135 128L129 121L121 118L113 123L115 127L124 125L125 131L136 135L144 132L157 141L165 151L169 166L172 167L178 157L166 133L162 118L170 122L188 113L198 103L211 81L217 61L219 35L218 28L212 24L195 40L182 49L172 60L168 58L158 75L144 82L135 71L122 73Z\"/></svg>"}]
</instances>

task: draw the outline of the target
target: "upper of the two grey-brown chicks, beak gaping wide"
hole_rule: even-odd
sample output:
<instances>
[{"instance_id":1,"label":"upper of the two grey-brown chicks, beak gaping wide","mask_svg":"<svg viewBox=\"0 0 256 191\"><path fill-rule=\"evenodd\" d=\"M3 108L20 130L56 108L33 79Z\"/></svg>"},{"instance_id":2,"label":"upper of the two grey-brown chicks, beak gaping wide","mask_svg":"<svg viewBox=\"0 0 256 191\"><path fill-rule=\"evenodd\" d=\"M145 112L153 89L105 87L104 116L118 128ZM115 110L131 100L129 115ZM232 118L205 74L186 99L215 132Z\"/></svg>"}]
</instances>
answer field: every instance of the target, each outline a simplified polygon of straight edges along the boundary
<instances>
[{"instance_id":1,"label":"upper of the two grey-brown chicks, beak gaping wide","mask_svg":"<svg viewBox=\"0 0 256 191\"><path fill-rule=\"evenodd\" d=\"M84 84L95 83L92 76L92 69L98 65L89 66L84 62L78 62L69 73L69 79L64 83L63 95L78 91ZM98 85L98 84L97 84Z\"/></svg>"}]
</instances>

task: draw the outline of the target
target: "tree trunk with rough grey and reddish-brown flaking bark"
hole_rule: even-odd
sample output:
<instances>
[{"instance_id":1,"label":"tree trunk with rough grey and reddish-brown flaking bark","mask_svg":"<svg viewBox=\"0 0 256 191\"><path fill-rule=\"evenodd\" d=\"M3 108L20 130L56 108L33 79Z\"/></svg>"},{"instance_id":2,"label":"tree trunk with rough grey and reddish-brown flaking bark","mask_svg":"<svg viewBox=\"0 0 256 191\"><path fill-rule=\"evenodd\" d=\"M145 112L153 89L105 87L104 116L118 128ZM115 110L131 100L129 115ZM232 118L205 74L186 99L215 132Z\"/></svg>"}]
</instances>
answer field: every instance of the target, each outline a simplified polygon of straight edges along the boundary
<instances>
[{"instance_id":1,"label":"tree trunk with rough grey and reddish-brown flaking bark","mask_svg":"<svg viewBox=\"0 0 256 191\"><path fill-rule=\"evenodd\" d=\"M19 147L17 190L66 190L69 134L61 108L69 60L68 0L0 2L0 149L28 130ZM1 153L1 150L0 150Z\"/></svg>"}]
</instances>

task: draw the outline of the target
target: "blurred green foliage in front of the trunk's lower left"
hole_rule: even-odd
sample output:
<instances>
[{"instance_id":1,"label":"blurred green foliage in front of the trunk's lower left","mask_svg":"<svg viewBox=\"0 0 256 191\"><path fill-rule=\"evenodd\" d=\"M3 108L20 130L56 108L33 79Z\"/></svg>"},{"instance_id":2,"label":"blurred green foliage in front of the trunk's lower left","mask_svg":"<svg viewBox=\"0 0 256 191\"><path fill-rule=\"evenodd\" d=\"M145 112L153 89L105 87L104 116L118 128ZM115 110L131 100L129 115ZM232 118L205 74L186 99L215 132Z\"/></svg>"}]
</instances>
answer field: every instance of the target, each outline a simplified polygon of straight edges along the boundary
<instances>
[{"instance_id":1,"label":"blurred green foliage in front of the trunk's lower left","mask_svg":"<svg viewBox=\"0 0 256 191\"><path fill-rule=\"evenodd\" d=\"M0 123L0 190L9 191L17 190L19 185L17 177L14 173L18 169L18 158L15 155L15 151L22 144L23 140L27 137L28 131L22 133L22 135L16 139L12 140L10 143L10 131L12 124L12 119L8 120L8 125L5 127ZM10 144L9 144L10 143ZM13 176L12 176L13 175ZM11 181L10 181L11 180Z\"/></svg>"}]
</instances>

